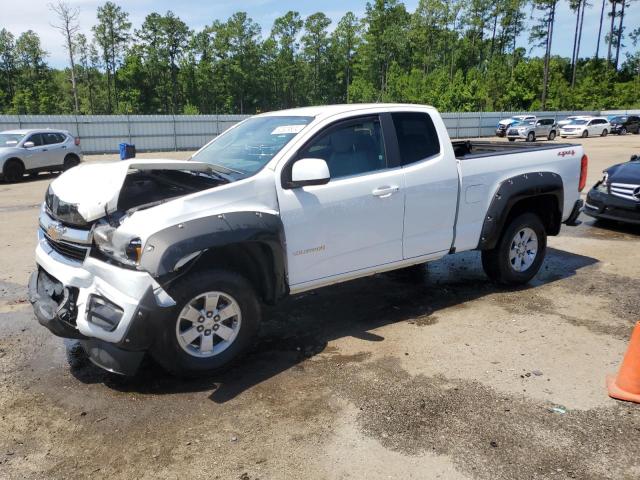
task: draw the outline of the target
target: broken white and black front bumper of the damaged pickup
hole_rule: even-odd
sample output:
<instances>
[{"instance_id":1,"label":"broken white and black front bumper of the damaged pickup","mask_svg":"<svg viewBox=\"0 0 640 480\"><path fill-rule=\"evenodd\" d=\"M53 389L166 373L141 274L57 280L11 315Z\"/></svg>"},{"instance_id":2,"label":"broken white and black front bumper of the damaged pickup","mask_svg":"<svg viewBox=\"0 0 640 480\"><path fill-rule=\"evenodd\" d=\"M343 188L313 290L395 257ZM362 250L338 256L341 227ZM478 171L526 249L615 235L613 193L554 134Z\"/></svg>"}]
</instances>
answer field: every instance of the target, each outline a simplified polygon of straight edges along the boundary
<instances>
[{"instance_id":1,"label":"broken white and black front bumper of the damaged pickup","mask_svg":"<svg viewBox=\"0 0 640 480\"><path fill-rule=\"evenodd\" d=\"M80 339L101 367L131 373L126 365L119 368L118 352L130 357L125 354L147 350L174 300L146 272L90 256L73 260L39 237L29 300L40 324L54 335Z\"/></svg>"}]
</instances>

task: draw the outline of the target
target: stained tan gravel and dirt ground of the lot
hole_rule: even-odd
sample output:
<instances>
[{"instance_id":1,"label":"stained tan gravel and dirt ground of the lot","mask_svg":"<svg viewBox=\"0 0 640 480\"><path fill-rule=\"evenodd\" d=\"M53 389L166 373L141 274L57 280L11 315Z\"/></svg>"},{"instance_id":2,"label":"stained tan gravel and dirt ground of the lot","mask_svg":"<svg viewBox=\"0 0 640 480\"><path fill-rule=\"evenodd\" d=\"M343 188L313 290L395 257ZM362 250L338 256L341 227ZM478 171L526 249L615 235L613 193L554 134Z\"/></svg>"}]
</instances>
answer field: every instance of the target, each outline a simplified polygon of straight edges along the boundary
<instances>
[{"instance_id":1,"label":"stained tan gravel and dirt ground of the lot","mask_svg":"<svg viewBox=\"0 0 640 480\"><path fill-rule=\"evenodd\" d=\"M575 143L590 185L640 153ZM521 289L468 252L301 294L224 374L126 379L71 366L26 300L51 178L0 185L0 478L640 478L640 407L604 387L640 319L640 229L563 227Z\"/></svg>"}]
</instances>

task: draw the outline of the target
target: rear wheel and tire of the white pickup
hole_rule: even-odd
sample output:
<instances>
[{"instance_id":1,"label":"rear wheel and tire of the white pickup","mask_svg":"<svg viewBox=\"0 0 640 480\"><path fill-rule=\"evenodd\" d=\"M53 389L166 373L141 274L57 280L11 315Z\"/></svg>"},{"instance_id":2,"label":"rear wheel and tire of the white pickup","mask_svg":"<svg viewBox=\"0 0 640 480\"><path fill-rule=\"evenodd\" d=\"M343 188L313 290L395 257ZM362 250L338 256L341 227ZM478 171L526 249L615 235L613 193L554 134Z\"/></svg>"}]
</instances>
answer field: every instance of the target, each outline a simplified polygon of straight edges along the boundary
<instances>
[{"instance_id":1,"label":"rear wheel and tire of the white pickup","mask_svg":"<svg viewBox=\"0 0 640 480\"><path fill-rule=\"evenodd\" d=\"M521 236L522 232L525 232L524 237ZM537 246L533 257L530 251L523 250L517 245L515 245L514 248L516 236L519 239L526 240L527 234L535 234ZM533 250L533 248L531 248L533 246L533 242L528 242L524 248L526 249L528 247L530 250ZM515 258L513 258L515 251L523 252L523 255L520 256L517 254ZM487 276L496 283L503 285L523 285L538 273L544 261L546 251L547 232L540 218L533 213L524 213L509 222L502 232L495 248L482 252L482 268ZM518 262L522 259L531 261L531 263L529 265L520 263L520 269L518 269Z\"/></svg>"}]
</instances>

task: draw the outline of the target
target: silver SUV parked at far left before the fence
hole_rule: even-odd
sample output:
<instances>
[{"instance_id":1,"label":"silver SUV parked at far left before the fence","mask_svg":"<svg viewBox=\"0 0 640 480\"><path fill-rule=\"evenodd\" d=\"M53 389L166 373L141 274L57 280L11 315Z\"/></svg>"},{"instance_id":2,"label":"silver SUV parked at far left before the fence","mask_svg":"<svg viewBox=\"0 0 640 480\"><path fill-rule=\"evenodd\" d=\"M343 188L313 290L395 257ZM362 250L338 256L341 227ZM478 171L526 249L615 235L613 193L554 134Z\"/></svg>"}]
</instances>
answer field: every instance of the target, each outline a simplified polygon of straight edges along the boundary
<instances>
[{"instance_id":1,"label":"silver SUV parked at far left before the fence","mask_svg":"<svg viewBox=\"0 0 640 480\"><path fill-rule=\"evenodd\" d=\"M82 161L80 139L65 130L0 132L0 172L18 182L25 173L68 170Z\"/></svg>"}]
</instances>

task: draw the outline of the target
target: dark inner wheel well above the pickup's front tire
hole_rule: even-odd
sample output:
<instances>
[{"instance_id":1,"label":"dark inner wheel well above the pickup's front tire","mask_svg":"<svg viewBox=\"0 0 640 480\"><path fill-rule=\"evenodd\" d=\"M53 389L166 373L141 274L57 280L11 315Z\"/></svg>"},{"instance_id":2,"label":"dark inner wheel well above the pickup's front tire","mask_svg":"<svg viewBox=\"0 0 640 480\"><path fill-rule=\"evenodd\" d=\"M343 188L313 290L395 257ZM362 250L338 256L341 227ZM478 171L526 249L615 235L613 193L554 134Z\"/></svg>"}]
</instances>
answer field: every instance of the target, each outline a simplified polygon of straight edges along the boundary
<instances>
[{"instance_id":1,"label":"dark inner wheel well above the pickup's front tire","mask_svg":"<svg viewBox=\"0 0 640 480\"><path fill-rule=\"evenodd\" d=\"M260 242L244 242L208 249L191 271L212 268L230 270L245 277L265 303L273 304L282 295L271 249Z\"/></svg>"}]
</instances>

